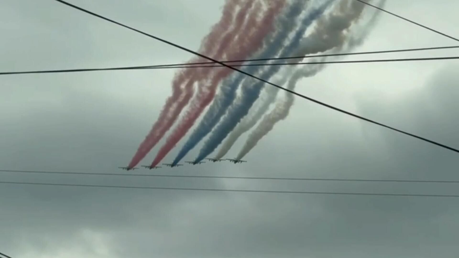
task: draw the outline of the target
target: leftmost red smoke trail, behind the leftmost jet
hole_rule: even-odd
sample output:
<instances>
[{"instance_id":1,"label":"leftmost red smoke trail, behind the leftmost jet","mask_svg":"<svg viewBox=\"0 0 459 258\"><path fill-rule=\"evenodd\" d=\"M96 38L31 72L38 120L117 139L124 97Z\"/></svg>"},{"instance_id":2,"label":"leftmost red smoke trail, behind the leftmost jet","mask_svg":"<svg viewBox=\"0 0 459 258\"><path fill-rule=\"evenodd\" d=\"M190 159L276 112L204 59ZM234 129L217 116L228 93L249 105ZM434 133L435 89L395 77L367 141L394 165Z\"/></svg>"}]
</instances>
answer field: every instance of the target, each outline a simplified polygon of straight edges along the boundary
<instances>
[{"instance_id":1,"label":"leftmost red smoke trail, behind the leftmost jet","mask_svg":"<svg viewBox=\"0 0 459 258\"><path fill-rule=\"evenodd\" d=\"M236 7L239 6L241 0L227 0L224 8L223 15L220 21L213 26L210 33L202 39L200 52L205 55L215 56L214 52L224 32L230 27L233 20L233 14L235 13ZM241 11L240 11L241 12ZM215 57L214 57L215 58ZM202 62L202 57L195 57L189 62ZM154 123L150 132L146 136L145 140L140 144L137 152L129 163L129 168L135 167L148 152L157 144L161 137L167 132L167 130L174 124L175 120L180 114L180 111L189 102L193 95L193 84L196 81L196 77L190 77L196 73L193 68L183 69L179 73L176 73L172 82L172 96L168 98L166 104L161 110L159 118ZM188 79L188 81L187 81ZM185 84L185 82L187 82ZM185 85L183 85L185 84ZM184 92L186 90L186 92Z\"/></svg>"}]
</instances>

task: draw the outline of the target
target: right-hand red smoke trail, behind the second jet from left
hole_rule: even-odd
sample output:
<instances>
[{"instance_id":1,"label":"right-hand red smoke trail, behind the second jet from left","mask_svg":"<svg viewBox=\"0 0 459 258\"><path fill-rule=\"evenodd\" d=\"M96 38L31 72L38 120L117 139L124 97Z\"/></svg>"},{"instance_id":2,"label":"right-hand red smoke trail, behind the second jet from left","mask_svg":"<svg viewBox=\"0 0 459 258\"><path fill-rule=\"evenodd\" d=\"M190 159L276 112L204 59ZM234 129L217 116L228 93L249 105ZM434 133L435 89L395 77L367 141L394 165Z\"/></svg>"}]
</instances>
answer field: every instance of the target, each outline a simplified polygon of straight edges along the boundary
<instances>
[{"instance_id":1,"label":"right-hand red smoke trail, behind the second jet from left","mask_svg":"<svg viewBox=\"0 0 459 258\"><path fill-rule=\"evenodd\" d=\"M237 36L235 41L231 42L229 49L224 49L226 51L224 55L227 59L246 59L249 55L262 47L263 39L273 28L276 14L278 14L285 5L285 0L277 0L274 4L273 2L274 1L269 3L269 9L264 13L263 19L257 19L256 15L253 15L249 18L246 22L246 26L241 31L235 31L234 35L227 34L227 36L231 36L232 38ZM156 166L161 162L179 140L185 136L202 111L213 100L218 83L233 72L233 70L226 67L219 68L217 71L218 72L213 74L211 82L204 82L205 85L199 88L198 94L193 99L190 109L186 112L185 117L177 125L173 133L168 137L164 146L159 150L155 160L151 163L152 166Z\"/></svg>"}]
</instances>

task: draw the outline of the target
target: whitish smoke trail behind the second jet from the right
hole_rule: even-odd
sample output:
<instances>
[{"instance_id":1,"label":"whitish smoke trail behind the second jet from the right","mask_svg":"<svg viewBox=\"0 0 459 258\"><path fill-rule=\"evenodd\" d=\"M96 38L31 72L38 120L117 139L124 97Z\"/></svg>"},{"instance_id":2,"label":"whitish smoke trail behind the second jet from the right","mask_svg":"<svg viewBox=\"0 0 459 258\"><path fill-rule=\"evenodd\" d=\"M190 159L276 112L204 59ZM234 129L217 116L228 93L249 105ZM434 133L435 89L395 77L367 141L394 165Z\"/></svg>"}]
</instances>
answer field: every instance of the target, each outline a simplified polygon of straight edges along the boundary
<instances>
[{"instance_id":1,"label":"whitish smoke trail behind the second jet from the right","mask_svg":"<svg viewBox=\"0 0 459 258\"><path fill-rule=\"evenodd\" d=\"M363 9L364 4L358 1L349 2L348 0L342 0L334 8L333 12L319 18L313 32L308 37L302 39L302 44L298 47L294 56L315 54L341 45L345 38L344 31L360 17ZM300 61L301 59L296 59L292 62ZM284 75L280 79L275 80L274 83L278 85L285 84L293 71L292 67L287 67ZM235 144L236 140L257 124L274 102L278 92L279 88L276 87L265 88L265 97L258 99L256 105L252 108L252 113L242 119L241 123L229 134L215 158L220 159L224 157Z\"/></svg>"}]
</instances>

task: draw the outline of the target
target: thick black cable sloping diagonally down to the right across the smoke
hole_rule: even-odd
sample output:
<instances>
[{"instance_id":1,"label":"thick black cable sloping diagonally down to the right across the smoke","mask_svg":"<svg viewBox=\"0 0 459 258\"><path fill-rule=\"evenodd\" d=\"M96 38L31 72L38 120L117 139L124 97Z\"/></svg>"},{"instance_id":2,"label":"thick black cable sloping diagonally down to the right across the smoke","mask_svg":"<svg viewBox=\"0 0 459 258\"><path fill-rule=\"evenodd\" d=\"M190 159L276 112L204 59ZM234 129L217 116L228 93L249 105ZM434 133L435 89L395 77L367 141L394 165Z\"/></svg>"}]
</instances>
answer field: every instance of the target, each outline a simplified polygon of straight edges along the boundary
<instances>
[{"instance_id":1,"label":"thick black cable sloping diagonally down to the right across the smoke","mask_svg":"<svg viewBox=\"0 0 459 258\"><path fill-rule=\"evenodd\" d=\"M211 57L208 57L208 56L202 55L202 54L200 54L200 53L197 53L196 51L193 51L193 50L187 49L187 48L185 48L185 47L183 47L183 46L180 46L180 45L177 45L177 44L175 44L175 43L172 43L172 42L170 42L170 41L168 41L168 40L166 40L166 39L162 39L162 38L159 38L159 37L157 37L157 36L154 36L154 35L148 34L148 33L146 33L146 32L143 32L143 31L141 31L141 30L138 30L138 29L136 29L136 28L129 27L129 26L127 26L127 25L124 25L123 23L116 22L116 21L114 21L114 20L112 20L112 19L103 17L103 16L101 16L101 15L99 15L99 14L96 14L96 13L94 13L94 12L92 12L92 11L88 11L88 10L85 10L85 9L83 9L83 8L81 8L81 7L78 7L78 6L72 5L72 4L70 4L70 3L67 3L66 1L63 1L63 0L55 0L55 1L60 2L60 3L62 3L62 4L64 4L64 5L67 5L67 6L73 7L73 8L75 8L75 9L77 9L77 10L86 12L86 13L88 13L88 14L90 14L90 15L95 16L95 17L99 17L99 18L104 19L104 20L106 20L106 21L108 21L108 22L115 23L115 24L117 24L117 25L119 25L119 26L122 26L122 27L124 27L124 28L128 28L128 29L133 30L133 31L135 31L135 32L138 32L138 33L140 33L140 34L146 35L146 36L148 36L148 37L150 37L150 38L152 38L152 39L156 39L156 40L161 41L161 42L163 42L163 43L166 43L166 44L168 44L168 45L172 45L172 46L177 47L177 48L179 48L179 49L181 49L181 50L185 50L185 51L190 52L190 53L192 53L192 54L195 54L195 55L197 55L197 56L201 56L201 57L206 58L206 59L208 59L208 60L210 60L210 61L213 61L213 62L216 62L216 63L218 63L218 64L220 64L220 65L223 65L224 67L227 67L227 68L229 68L229 69L231 69L231 70L234 70L234 71L237 71L237 72L239 72L239 73L245 74L245 75L247 75L247 76L249 76L249 77L252 77L252 78L254 78L254 79L257 79L257 80L259 80L259 81L262 81L262 82L264 82L264 83L266 83L266 84L269 84L269 85L274 86L274 87L276 87L276 88L279 88L279 89L281 89L281 90L285 90L285 91L287 91L287 92L290 92L290 93L293 94L293 95L297 95L297 96L299 96L299 97L302 97L302 98L304 98L304 99L307 99L307 100L309 100L309 101L312 101L312 102L314 102L314 103L317 103L317 104L319 104L319 105L322 105L322 106L324 106L324 107L328 107L328 108L330 108L330 109L333 109L333 110L335 110L335 111L338 111L338 112L347 114L347 115L352 116L352 117L354 117L354 118L358 118L358 119L367 121L367 122L369 122L369 123L374 123L374 124L377 124L377 125L379 125L379 126L385 127L385 128L387 128L387 129L391 129L391 130L394 130L394 131L396 131L396 132L402 133L402 134L404 134L404 135L409 135L409 136L414 137L414 138L416 138L416 139L423 140L423 141L429 142L429 143L431 143L431 144L434 144L434 145L443 147L443 148L445 148L445 149L448 149L448 150L451 150L451 151L454 151L454 152L459 153L459 150L458 150L458 149L455 149L455 148L453 148L453 147L446 146L446 145L444 145L444 144L435 142L435 141L433 141L433 140L429 140L429 139L426 139L426 138L424 138L424 137L420 137L420 136L417 136L417 135L414 135L414 134L411 134L411 133L408 133L408 132L405 132L405 131L402 131L402 130L393 128L393 127L388 126L388 125L385 125L385 124L383 124L383 123L379 123L379 122L373 121L373 120L371 120L371 119L369 119L369 118L364 118L364 117L359 116L359 115L356 115L356 114L354 114L354 113L345 111L345 110L343 110L343 109L341 109L341 108L331 106L331 105L326 104L326 103L324 103L324 102L322 102L322 101L315 100L315 99L313 99L313 98L311 98L311 97L308 97L308 96L306 96L306 95L302 95L302 94L297 93L297 92L295 92L295 91L293 91L293 90L289 90L289 89L284 88L284 87L281 87L281 86L279 86L279 85L277 85L277 84L273 84L273 83L271 83L271 82L269 82L269 81L267 81L267 80L258 78L257 76L252 75L252 74L250 74L250 73L246 73L246 72L244 72L244 71L241 71L241 70L239 70L239 69L237 69L237 68L235 68L235 67L231 67L231 66L229 66L229 65L227 65L227 64L224 64L223 62L220 62L220 61L218 61L218 60L215 60L215 59L213 59L213 58L211 58Z\"/></svg>"}]
</instances>

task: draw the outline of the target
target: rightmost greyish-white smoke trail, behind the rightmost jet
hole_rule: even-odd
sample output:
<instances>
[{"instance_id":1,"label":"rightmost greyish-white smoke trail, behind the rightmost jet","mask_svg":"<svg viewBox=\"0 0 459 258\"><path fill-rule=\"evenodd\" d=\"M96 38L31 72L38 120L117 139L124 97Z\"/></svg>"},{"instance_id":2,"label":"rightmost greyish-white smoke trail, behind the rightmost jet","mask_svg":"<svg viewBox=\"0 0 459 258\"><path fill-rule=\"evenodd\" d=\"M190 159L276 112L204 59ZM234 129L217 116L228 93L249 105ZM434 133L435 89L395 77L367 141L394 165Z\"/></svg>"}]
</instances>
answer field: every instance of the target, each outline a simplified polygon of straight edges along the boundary
<instances>
[{"instance_id":1,"label":"rightmost greyish-white smoke trail, behind the rightmost jet","mask_svg":"<svg viewBox=\"0 0 459 258\"><path fill-rule=\"evenodd\" d=\"M379 6L382 8L384 4L386 3L386 0L381 0L379 3ZM379 15L381 14L381 11L376 11L369 22L366 22L364 24L363 29L356 28L356 30L360 31L359 33L356 33L353 36L348 36L346 39L347 42L345 41L339 41L339 45L334 45L334 48L336 48L333 52L342 52L343 46L345 46L346 52L349 52L353 50L355 47L358 47L359 45L363 44L364 39L368 36L368 34L371 31L371 28L374 27ZM354 26L357 27L357 26ZM343 28L344 30L347 30L347 28ZM327 43L325 43L327 44ZM330 44L327 44L330 45ZM333 59L340 59L342 56L335 57ZM326 57L322 58L320 61L325 61ZM319 73L323 68L325 67L325 64L318 64L318 65L312 65L308 67L304 67L302 69L298 69L297 72L293 75L293 77L290 79L289 84L288 84L288 89L289 90L294 90L295 86L298 82L299 79L302 79L304 77L311 77L314 76L316 73ZM277 103L273 111L271 111L269 114L267 114L265 117L263 117L263 120L258 124L257 128L253 130L253 132L249 135L247 138L246 143L242 147L241 151L237 155L236 159L241 159L243 158L249 151L251 151L261 140L265 135L269 133L274 128L274 125L278 123L281 120L284 120L289 112L291 107L293 106L294 102L294 95L286 92L285 95L285 101L281 101Z\"/></svg>"}]
</instances>

